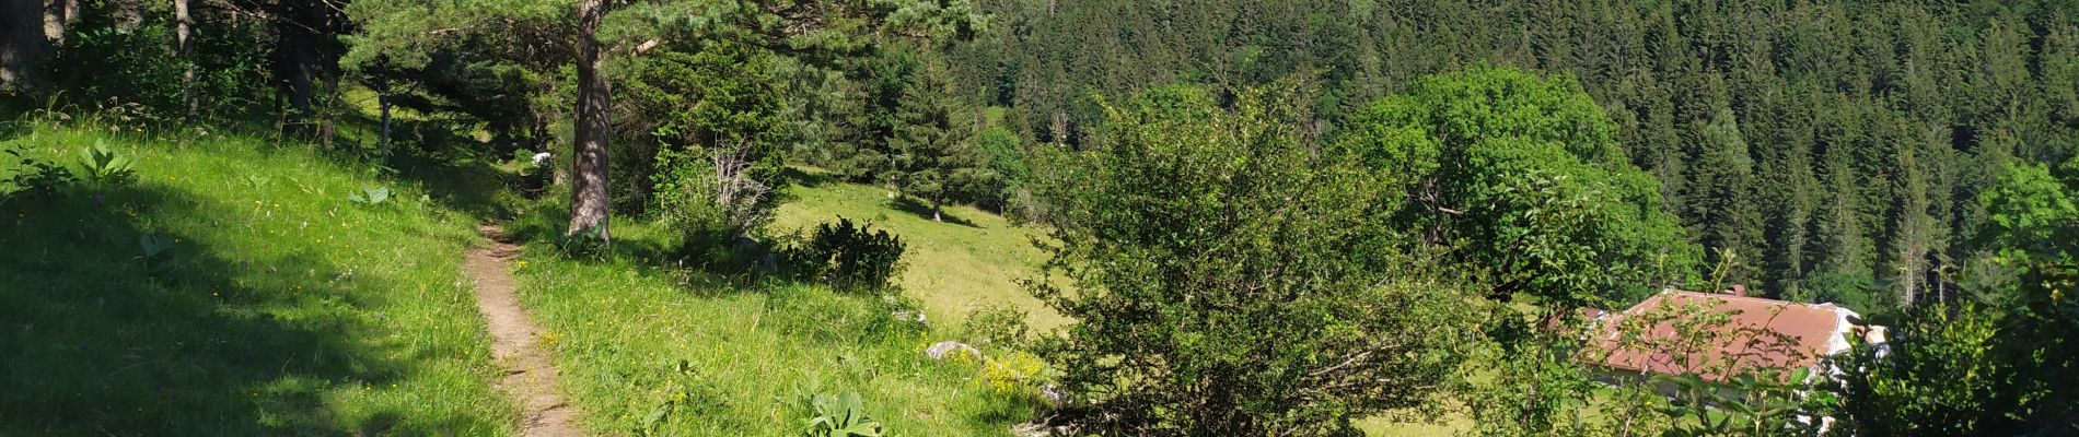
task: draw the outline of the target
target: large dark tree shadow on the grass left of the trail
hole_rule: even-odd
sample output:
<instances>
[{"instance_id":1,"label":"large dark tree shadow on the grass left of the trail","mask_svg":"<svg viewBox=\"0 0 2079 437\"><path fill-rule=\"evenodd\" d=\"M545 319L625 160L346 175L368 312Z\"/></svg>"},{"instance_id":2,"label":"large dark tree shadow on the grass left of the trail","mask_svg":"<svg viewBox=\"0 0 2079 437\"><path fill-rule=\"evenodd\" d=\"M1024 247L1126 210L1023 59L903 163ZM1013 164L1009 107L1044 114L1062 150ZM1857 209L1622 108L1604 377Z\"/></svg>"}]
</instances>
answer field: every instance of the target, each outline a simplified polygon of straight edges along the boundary
<instances>
[{"instance_id":1,"label":"large dark tree shadow on the grass left of the trail","mask_svg":"<svg viewBox=\"0 0 2079 437\"><path fill-rule=\"evenodd\" d=\"M326 282L310 249L239 259L170 217L231 211L166 186L0 205L0 435L435 435L499 418L428 418L337 391L407 381L360 319L370 302ZM170 240L143 257L139 236ZM326 273L318 273L326 271ZM356 286L385 288L376 278ZM376 410L366 410L376 408ZM358 423L358 425L353 425ZM368 429L370 425L378 429Z\"/></svg>"}]
</instances>

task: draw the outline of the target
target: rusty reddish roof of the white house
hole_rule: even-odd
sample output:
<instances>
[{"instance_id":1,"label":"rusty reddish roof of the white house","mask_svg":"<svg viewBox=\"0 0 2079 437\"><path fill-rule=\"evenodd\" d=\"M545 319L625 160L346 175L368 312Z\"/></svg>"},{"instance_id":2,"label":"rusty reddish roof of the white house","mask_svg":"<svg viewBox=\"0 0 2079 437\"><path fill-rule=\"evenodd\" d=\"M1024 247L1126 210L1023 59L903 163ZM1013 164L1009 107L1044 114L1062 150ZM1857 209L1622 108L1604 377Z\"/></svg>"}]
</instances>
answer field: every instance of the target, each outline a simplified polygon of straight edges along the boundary
<instances>
[{"instance_id":1,"label":"rusty reddish roof of the white house","mask_svg":"<svg viewBox=\"0 0 2079 437\"><path fill-rule=\"evenodd\" d=\"M1807 369L1848 348L1842 333L1852 329L1850 317L1854 311L1834 304L1665 290L1605 319L1588 358L1620 371L1696 373L1713 381ZM1705 336L1676 338L1680 325Z\"/></svg>"}]
</instances>

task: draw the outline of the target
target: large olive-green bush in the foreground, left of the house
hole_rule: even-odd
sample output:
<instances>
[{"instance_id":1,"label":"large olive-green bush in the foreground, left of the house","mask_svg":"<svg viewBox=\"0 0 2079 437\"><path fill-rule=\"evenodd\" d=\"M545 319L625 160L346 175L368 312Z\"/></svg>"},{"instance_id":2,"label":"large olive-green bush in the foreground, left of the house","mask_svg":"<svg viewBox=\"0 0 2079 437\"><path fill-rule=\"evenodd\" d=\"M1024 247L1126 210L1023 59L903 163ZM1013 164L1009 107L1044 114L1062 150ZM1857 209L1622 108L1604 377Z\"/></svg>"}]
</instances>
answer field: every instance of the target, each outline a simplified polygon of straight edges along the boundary
<instances>
[{"instance_id":1,"label":"large olive-green bush in the foreground, left of the house","mask_svg":"<svg viewBox=\"0 0 2079 437\"><path fill-rule=\"evenodd\" d=\"M1306 93L1158 87L1108 106L1098 147L1046 162L1071 317L1040 354L1104 435L1333 435L1420 404L1464 294L1372 213L1395 195L1308 141Z\"/></svg>"}]
</instances>

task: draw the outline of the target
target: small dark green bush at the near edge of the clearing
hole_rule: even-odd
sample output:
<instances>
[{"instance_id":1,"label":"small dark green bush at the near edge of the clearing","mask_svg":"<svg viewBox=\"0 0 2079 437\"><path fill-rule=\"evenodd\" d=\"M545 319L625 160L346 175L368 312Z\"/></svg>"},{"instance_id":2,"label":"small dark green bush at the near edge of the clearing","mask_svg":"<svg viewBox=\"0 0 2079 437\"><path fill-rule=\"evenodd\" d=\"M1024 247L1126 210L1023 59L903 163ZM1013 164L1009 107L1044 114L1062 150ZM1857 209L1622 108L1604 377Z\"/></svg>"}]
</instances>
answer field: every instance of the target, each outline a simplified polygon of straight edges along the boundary
<instances>
[{"instance_id":1,"label":"small dark green bush at the near edge of the clearing","mask_svg":"<svg viewBox=\"0 0 2079 437\"><path fill-rule=\"evenodd\" d=\"M788 253L790 265L805 278L846 292L877 292L894 288L902 273L902 238L888 230L838 217L815 226L809 240Z\"/></svg>"}]
</instances>

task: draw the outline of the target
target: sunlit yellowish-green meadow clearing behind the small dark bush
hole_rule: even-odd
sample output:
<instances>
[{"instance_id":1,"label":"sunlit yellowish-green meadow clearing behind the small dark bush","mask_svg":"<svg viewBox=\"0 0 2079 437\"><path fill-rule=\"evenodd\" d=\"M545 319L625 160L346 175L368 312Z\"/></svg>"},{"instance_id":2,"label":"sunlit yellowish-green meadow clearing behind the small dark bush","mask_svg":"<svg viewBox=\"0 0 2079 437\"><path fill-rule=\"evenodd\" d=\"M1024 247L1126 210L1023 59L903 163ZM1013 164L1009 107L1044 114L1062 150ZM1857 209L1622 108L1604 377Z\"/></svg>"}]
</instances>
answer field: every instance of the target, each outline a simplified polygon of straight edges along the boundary
<instances>
[{"instance_id":1,"label":"sunlit yellowish-green meadow clearing behind the small dark bush","mask_svg":"<svg viewBox=\"0 0 2079 437\"><path fill-rule=\"evenodd\" d=\"M1067 319L1033 298L1017 282L1040 273L1046 253L1033 246L1044 232L967 205L948 205L946 222L931 222L919 205L898 207L888 191L834 182L809 170L790 186L773 230L805 230L836 217L873 222L909 242L900 284L923 302L933 321L958 321L981 304L1012 304L1031 313L1031 325L1050 329Z\"/></svg>"}]
</instances>

